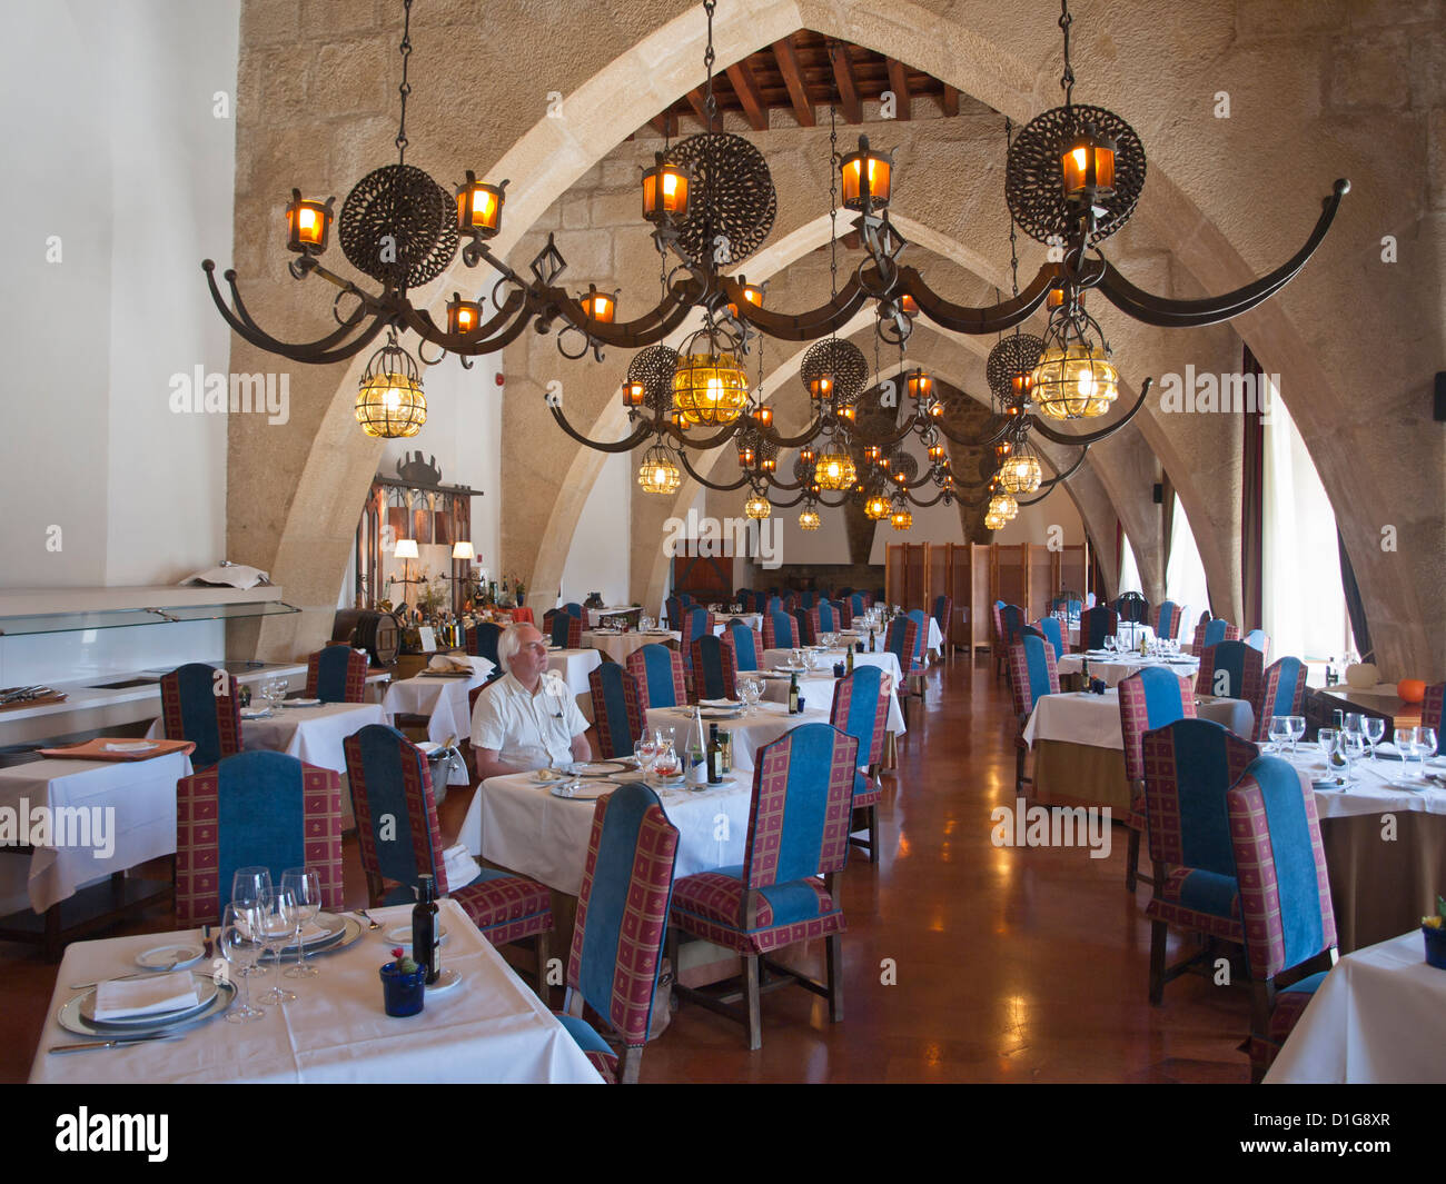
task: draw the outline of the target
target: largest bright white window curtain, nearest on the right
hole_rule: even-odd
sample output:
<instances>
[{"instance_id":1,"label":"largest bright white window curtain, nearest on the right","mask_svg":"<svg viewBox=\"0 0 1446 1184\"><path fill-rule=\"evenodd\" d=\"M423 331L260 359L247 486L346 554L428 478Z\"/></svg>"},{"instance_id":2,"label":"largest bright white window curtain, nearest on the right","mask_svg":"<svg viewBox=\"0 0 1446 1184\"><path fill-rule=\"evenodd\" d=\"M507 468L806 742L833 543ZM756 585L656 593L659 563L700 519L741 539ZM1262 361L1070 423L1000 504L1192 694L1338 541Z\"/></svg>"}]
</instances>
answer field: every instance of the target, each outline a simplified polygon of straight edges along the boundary
<instances>
[{"instance_id":1,"label":"largest bright white window curtain, nearest on the right","mask_svg":"<svg viewBox=\"0 0 1446 1184\"><path fill-rule=\"evenodd\" d=\"M1278 392L1265 422L1261 626L1271 659L1342 658L1351 648L1336 516Z\"/></svg>"}]
</instances>

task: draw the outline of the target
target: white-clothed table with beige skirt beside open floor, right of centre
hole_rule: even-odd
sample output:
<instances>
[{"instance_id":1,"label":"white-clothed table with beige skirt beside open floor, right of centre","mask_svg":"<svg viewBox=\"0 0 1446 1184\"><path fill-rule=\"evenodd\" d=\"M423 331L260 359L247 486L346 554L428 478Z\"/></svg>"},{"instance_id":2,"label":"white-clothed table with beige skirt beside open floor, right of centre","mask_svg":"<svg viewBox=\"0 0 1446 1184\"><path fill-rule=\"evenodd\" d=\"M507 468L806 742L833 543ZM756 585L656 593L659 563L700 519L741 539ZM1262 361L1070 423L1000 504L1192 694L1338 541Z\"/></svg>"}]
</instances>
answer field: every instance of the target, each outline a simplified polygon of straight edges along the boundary
<instances>
[{"instance_id":1,"label":"white-clothed table with beige skirt beside open floor, right of centre","mask_svg":"<svg viewBox=\"0 0 1446 1184\"><path fill-rule=\"evenodd\" d=\"M1241 698L1197 695L1196 713L1246 739L1255 727L1255 708ZM1034 792L1041 799L1108 805L1116 817L1129 810L1118 690L1040 695L1024 740L1034 752Z\"/></svg>"}]
</instances>

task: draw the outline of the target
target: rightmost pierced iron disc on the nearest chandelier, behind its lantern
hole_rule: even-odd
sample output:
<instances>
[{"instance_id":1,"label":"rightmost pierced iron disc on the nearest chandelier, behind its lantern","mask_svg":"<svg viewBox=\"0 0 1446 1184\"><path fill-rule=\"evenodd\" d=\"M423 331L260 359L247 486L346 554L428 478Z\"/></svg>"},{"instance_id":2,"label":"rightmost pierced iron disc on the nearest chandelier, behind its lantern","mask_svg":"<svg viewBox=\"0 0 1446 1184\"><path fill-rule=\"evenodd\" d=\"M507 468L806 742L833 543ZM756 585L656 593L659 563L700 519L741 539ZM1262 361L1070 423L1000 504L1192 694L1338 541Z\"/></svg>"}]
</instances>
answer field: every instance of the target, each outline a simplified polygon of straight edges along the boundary
<instances>
[{"instance_id":1,"label":"rightmost pierced iron disc on the nearest chandelier, behind its lantern","mask_svg":"<svg viewBox=\"0 0 1446 1184\"><path fill-rule=\"evenodd\" d=\"M1079 217L1064 201L1060 156L1086 123L1115 142L1115 192L1099 198L1099 215L1090 243L1119 230L1135 211L1145 188L1145 146L1135 129L1103 107L1054 107L1030 120L1009 145L1004 192L1019 230L1040 243L1064 244L1074 236Z\"/></svg>"}]
</instances>

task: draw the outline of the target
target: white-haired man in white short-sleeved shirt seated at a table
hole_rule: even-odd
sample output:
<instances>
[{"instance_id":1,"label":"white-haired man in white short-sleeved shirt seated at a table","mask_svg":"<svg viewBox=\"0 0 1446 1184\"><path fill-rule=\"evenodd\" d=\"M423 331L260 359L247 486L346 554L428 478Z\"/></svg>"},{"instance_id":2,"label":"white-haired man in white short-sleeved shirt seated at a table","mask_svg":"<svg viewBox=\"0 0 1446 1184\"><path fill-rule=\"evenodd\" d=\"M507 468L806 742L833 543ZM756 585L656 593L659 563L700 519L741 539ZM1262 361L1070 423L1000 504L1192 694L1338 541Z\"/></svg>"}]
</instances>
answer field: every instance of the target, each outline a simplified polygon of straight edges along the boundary
<instances>
[{"instance_id":1,"label":"white-haired man in white short-sleeved shirt seated at a table","mask_svg":"<svg viewBox=\"0 0 1446 1184\"><path fill-rule=\"evenodd\" d=\"M587 720L567 684L547 669L547 640L536 626L509 625L497 638L497 665L506 671L477 695L471 750L486 781L591 760Z\"/></svg>"}]
</instances>

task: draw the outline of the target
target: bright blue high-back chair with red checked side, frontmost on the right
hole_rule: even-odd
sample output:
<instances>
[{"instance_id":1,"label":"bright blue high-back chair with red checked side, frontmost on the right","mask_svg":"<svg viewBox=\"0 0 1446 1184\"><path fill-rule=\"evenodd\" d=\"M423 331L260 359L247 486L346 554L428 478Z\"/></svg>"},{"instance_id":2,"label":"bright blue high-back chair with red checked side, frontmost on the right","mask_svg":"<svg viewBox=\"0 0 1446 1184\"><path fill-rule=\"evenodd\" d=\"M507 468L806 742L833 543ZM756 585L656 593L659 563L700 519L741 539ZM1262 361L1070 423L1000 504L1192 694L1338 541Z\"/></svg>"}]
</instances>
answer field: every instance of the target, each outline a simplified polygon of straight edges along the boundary
<instances>
[{"instance_id":1,"label":"bright blue high-back chair with red checked side, frontmost on the right","mask_svg":"<svg viewBox=\"0 0 1446 1184\"><path fill-rule=\"evenodd\" d=\"M1249 763L1226 792L1245 960L1251 1080L1259 1081L1336 961L1316 795L1278 756Z\"/></svg>"}]
</instances>

